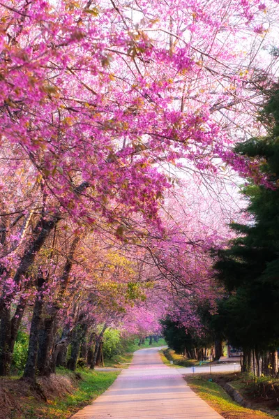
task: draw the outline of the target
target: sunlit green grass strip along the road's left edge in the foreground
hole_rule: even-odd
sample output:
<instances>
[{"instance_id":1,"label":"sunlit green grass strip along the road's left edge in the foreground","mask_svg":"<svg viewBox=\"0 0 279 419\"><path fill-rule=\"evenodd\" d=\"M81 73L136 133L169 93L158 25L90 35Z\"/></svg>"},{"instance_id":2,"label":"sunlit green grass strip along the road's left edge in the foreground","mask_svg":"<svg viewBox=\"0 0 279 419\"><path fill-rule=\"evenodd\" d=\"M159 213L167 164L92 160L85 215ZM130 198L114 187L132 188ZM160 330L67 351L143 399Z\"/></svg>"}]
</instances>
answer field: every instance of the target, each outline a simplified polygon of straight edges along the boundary
<instances>
[{"instance_id":1,"label":"sunlit green grass strip along the road's left edge in the foreground","mask_svg":"<svg viewBox=\"0 0 279 419\"><path fill-rule=\"evenodd\" d=\"M65 374L61 369L59 374ZM82 409L96 399L112 385L119 372L94 372L92 370L78 369L82 376L78 387L73 394L66 397L56 398L47 404L29 400L24 406L24 419L66 419L73 413ZM22 406L23 407L23 406Z\"/></svg>"}]
</instances>

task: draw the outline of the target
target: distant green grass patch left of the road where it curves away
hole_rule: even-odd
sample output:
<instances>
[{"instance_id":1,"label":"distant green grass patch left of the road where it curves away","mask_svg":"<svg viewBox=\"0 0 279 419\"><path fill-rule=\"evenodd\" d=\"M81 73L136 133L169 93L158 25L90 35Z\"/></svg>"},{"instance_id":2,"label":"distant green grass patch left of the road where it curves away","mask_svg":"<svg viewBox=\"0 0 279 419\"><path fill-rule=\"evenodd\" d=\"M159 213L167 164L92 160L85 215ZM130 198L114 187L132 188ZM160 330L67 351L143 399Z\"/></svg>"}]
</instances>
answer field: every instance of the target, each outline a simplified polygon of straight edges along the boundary
<instances>
[{"instance_id":1,"label":"distant green grass patch left of the road where it curves away","mask_svg":"<svg viewBox=\"0 0 279 419\"><path fill-rule=\"evenodd\" d=\"M138 346L138 343L139 339L134 339L126 345L123 353L114 355L110 359L105 359L105 367L127 368L130 362L132 362L133 353L135 351L144 348L158 348L159 346L166 346L165 339L158 339L158 342L153 341L151 345L149 345L149 339L146 339L143 345Z\"/></svg>"}]
</instances>

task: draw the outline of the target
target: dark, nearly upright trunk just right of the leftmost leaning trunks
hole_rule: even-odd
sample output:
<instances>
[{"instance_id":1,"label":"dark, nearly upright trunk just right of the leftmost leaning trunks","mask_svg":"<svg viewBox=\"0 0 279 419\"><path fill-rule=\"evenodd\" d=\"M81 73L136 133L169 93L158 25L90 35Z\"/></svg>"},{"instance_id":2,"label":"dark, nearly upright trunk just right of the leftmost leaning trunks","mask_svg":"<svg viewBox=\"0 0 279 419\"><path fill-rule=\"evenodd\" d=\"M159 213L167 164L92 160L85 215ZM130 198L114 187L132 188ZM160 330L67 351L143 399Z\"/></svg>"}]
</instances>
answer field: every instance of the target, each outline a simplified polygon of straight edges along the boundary
<instances>
[{"instance_id":1,"label":"dark, nearly upright trunk just right of the leftmost leaning trunks","mask_svg":"<svg viewBox=\"0 0 279 419\"><path fill-rule=\"evenodd\" d=\"M27 363L25 365L23 378L30 381L35 381L37 360L38 360L38 333L40 330L40 323L42 321L43 313L43 293L41 288L45 284L45 279L38 278L38 294L33 308L33 316L31 321L29 347L27 355Z\"/></svg>"}]
</instances>

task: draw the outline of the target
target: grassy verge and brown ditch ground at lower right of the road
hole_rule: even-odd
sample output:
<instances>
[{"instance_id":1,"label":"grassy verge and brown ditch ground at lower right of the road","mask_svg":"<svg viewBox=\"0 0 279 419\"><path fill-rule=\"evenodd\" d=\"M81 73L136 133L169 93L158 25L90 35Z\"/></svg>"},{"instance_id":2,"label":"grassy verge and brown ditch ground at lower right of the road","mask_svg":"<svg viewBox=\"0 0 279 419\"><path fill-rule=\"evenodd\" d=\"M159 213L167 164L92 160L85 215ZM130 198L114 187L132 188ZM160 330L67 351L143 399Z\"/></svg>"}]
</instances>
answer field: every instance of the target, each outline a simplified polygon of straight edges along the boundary
<instances>
[{"instance_id":1,"label":"grassy verge and brown ditch ground at lower right of the road","mask_svg":"<svg viewBox=\"0 0 279 419\"><path fill-rule=\"evenodd\" d=\"M279 418L278 395L268 392L267 388L274 388L279 385L279 380L269 378L259 378L255 383L255 378L249 374L239 372L229 374L195 374L184 376L186 382L199 397L204 399L214 410L220 413L225 419L267 419L272 417ZM259 382L264 381L264 385ZM276 383L277 382L277 383ZM234 402L221 385L229 383L241 396L248 402L252 409L247 409ZM267 397L264 397L263 390ZM264 413L259 409L268 409L272 412Z\"/></svg>"}]
</instances>

